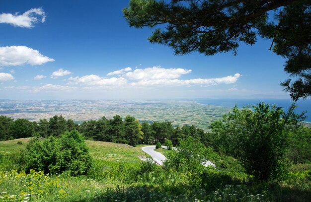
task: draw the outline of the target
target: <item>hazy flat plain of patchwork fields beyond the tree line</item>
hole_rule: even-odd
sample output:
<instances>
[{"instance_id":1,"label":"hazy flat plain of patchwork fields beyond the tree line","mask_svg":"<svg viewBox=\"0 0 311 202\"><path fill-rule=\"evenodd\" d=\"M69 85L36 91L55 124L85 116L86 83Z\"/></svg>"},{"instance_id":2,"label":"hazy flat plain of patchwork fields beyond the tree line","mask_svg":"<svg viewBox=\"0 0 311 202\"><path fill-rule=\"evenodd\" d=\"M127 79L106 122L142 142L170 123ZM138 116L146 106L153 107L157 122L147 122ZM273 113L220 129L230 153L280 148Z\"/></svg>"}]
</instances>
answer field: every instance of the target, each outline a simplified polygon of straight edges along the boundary
<instances>
[{"instance_id":1,"label":"hazy flat plain of patchwork fields beyond the tree line","mask_svg":"<svg viewBox=\"0 0 311 202\"><path fill-rule=\"evenodd\" d=\"M13 119L39 121L63 115L66 119L81 123L103 116L112 118L118 114L121 117L134 116L140 122L170 121L174 126L195 125L204 130L231 110L194 101L0 100L0 115Z\"/></svg>"}]
</instances>

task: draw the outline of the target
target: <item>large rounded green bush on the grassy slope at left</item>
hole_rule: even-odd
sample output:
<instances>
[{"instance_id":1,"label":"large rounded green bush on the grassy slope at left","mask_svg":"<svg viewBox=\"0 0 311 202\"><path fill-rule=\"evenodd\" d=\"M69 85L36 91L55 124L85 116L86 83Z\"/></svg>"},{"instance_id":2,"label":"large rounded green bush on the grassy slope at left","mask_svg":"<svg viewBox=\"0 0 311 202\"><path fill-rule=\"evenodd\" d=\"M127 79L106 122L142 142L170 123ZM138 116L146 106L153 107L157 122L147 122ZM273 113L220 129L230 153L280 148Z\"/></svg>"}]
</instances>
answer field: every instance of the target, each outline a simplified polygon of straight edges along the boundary
<instances>
[{"instance_id":1,"label":"large rounded green bush on the grassy slope at left","mask_svg":"<svg viewBox=\"0 0 311 202\"><path fill-rule=\"evenodd\" d=\"M92 158L82 135L65 132L60 137L34 138L26 146L26 171L59 174L69 171L73 176L86 174Z\"/></svg>"}]
</instances>

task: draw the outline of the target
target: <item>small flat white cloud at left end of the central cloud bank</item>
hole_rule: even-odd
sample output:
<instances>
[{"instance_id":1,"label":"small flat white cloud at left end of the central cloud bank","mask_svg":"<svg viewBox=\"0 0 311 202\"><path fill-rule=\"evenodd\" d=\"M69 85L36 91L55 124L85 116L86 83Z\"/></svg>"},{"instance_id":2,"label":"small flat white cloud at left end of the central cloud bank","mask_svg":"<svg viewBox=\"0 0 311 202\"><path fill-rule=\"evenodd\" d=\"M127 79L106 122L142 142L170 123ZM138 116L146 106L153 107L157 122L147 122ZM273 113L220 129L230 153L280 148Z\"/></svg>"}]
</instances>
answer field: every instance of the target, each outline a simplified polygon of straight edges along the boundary
<instances>
[{"instance_id":1,"label":"small flat white cloud at left end of the central cloud bank","mask_svg":"<svg viewBox=\"0 0 311 202\"><path fill-rule=\"evenodd\" d=\"M83 85L98 85L98 86L121 86L126 85L127 80L123 77L112 77L112 78L103 78L98 75L86 75L82 77L70 77L68 80L73 82L69 82L69 84L83 84Z\"/></svg>"}]
</instances>

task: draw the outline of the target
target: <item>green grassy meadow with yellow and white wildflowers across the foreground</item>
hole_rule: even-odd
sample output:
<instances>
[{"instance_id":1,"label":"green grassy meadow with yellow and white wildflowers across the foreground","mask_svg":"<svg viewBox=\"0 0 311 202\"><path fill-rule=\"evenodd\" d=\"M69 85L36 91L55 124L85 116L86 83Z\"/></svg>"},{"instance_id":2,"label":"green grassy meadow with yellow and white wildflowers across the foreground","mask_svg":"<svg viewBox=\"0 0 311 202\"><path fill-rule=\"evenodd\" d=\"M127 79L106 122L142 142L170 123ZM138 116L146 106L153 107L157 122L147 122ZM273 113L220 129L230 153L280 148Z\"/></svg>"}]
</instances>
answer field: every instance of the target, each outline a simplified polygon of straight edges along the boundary
<instances>
[{"instance_id":1,"label":"green grassy meadow with yellow and white wildflowers across the foreground","mask_svg":"<svg viewBox=\"0 0 311 202\"><path fill-rule=\"evenodd\" d=\"M14 156L30 139L0 141L0 201L308 202L311 199L311 164L292 166L285 180L272 183L258 184L252 176L215 169L206 169L202 173L205 177L197 178L190 172L163 170L142 161L148 157L141 149L145 145L132 147L86 140L93 166L84 176L17 171ZM164 155L171 152L162 148L157 151Z\"/></svg>"}]
</instances>

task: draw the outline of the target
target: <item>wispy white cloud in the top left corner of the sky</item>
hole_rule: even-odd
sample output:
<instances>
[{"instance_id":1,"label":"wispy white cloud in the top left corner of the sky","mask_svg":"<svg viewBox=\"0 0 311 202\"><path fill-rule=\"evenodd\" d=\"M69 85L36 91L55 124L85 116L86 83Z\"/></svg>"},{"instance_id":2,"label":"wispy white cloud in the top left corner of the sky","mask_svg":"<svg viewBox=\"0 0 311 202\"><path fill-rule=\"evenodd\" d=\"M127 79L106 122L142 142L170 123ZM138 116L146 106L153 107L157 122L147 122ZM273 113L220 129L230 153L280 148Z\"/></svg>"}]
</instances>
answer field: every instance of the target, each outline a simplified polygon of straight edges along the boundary
<instances>
[{"instance_id":1,"label":"wispy white cloud in the top left corner of the sky","mask_svg":"<svg viewBox=\"0 0 311 202\"><path fill-rule=\"evenodd\" d=\"M46 15L42 8L32 8L20 15L17 12L14 14L2 13L0 14L0 23L7 23L16 27L32 28L39 21L45 22L45 18Z\"/></svg>"}]
</instances>

